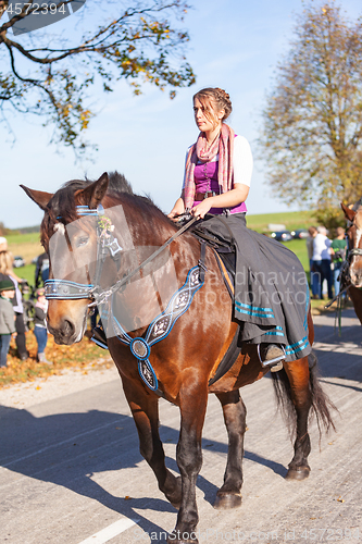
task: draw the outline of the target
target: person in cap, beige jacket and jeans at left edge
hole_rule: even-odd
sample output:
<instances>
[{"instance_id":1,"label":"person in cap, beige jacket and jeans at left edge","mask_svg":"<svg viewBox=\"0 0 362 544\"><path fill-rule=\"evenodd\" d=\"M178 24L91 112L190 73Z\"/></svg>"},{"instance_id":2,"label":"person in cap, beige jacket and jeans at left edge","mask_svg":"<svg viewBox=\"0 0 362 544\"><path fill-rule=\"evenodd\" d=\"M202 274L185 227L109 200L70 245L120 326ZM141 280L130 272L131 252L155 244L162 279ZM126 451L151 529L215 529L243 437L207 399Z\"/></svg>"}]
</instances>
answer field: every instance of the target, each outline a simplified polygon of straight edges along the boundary
<instances>
[{"instance_id":1,"label":"person in cap, beige jacket and jeans at left edge","mask_svg":"<svg viewBox=\"0 0 362 544\"><path fill-rule=\"evenodd\" d=\"M7 367L11 335L15 332L15 313L11 298L15 295L11 280L0 280L0 367Z\"/></svg>"}]
</instances>

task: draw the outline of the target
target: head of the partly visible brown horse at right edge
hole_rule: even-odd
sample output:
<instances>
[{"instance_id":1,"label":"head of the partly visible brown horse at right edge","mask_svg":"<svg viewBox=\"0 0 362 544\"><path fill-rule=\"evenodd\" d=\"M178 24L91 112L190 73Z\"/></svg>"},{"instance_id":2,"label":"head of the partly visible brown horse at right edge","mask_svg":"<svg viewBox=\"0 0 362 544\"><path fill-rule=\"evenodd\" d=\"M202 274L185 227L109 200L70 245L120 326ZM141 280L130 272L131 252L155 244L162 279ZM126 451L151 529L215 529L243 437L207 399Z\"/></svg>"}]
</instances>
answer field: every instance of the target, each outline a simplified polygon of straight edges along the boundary
<instances>
[{"instance_id":1,"label":"head of the partly visible brown horse at right edge","mask_svg":"<svg viewBox=\"0 0 362 544\"><path fill-rule=\"evenodd\" d=\"M349 208L340 205L348 220L349 277L354 287L362 287L362 206Z\"/></svg>"}]
</instances>

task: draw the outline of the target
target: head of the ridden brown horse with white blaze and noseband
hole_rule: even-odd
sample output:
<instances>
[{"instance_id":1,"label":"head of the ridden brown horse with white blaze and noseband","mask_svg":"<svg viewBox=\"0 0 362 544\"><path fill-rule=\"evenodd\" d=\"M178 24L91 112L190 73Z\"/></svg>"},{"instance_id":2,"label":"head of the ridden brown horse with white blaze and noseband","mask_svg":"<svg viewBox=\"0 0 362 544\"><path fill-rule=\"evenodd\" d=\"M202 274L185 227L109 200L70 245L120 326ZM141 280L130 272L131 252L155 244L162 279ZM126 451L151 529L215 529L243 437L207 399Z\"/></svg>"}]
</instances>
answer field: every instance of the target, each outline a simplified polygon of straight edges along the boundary
<instances>
[{"instance_id":1,"label":"head of the ridden brown horse with white blaze and noseband","mask_svg":"<svg viewBox=\"0 0 362 544\"><path fill-rule=\"evenodd\" d=\"M21 185L45 211L40 235L50 260L47 320L57 344L79 342L86 331L97 264L95 215L108 184L104 173L93 183L68 182L55 194ZM82 217L79 209L93 213Z\"/></svg>"}]
</instances>

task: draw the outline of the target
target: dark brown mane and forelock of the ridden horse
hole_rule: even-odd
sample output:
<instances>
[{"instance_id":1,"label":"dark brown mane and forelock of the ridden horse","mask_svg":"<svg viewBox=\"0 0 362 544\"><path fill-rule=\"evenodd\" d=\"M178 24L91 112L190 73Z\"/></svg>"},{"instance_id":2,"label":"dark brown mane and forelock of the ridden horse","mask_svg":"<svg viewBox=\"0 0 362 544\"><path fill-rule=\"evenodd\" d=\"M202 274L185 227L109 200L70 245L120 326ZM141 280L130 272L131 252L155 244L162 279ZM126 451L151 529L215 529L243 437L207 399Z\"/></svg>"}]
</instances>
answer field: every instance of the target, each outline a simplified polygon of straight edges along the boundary
<instances>
[{"instance_id":1,"label":"dark brown mane and forelock of the ridden horse","mask_svg":"<svg viewBox=\"0 0 362 544\"><path fill-rule=\"evenodd\" d=\"M46 214L40 225L40 240L43 246L48 245L54 224L59 222L60 218L64 224L79 219L76 211L74 194L77 190L85 189L91 183L93 183L93 181L87 178L71 180L64 183L64 185L54 193L48 202ZM163 221L168 225L173 224L160 208L154 205L149 196L135 195L129 182L117 171L109 173L109 186L105 198L122 199L125 203L135 206L141 217L148 217L151 221L153 219L158 223Z\"/></svg>"}]
</instances>

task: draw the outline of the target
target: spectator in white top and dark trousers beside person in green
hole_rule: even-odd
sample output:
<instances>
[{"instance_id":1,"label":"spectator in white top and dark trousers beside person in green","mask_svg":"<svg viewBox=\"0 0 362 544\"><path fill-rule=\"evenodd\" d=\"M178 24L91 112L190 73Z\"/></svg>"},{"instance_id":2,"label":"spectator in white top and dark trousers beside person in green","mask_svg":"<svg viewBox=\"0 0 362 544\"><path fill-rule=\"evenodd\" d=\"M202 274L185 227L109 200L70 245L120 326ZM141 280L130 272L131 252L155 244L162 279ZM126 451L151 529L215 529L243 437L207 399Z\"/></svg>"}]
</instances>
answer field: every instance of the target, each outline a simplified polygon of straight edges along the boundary
<instances>
[{"instance_id":1,"label":"spectator in white top and dark trousers beside person in green","mask_svg":"<svg viewBox=\"0 0 362 544\"><path fill-rule=\"evenodd\" d=\"M323 299L323 282L327 281L328 298L333 298L332 289L332 270L330 270L330 239L327 237L325 226L319 226L317 233L313 239L313 271L319 275L319 296Z\"/></svg>"}]
</instances>

